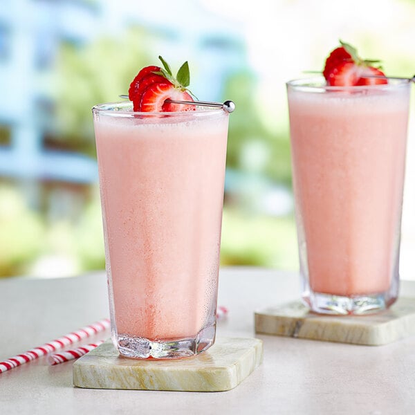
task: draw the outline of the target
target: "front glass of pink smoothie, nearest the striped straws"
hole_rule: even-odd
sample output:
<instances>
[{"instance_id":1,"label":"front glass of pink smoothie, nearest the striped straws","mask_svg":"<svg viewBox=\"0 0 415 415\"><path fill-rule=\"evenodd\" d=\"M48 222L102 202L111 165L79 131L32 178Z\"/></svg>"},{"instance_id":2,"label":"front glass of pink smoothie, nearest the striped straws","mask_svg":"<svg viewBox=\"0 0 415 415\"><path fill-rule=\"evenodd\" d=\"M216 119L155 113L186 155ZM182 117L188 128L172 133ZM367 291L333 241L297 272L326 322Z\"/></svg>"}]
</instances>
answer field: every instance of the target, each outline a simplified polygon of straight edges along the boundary
<instances>
[{"instance_id":1,"label":"front glass of pink smoothie, nearest the striped straws","mask_svg":"<svg viewBox=\"0 0 415 415\"><path fill-rule=\"evenodd\" d=\"M181 358L214 343L228 113L93 108L113 342Z\"/></svg>"}]
</instances>

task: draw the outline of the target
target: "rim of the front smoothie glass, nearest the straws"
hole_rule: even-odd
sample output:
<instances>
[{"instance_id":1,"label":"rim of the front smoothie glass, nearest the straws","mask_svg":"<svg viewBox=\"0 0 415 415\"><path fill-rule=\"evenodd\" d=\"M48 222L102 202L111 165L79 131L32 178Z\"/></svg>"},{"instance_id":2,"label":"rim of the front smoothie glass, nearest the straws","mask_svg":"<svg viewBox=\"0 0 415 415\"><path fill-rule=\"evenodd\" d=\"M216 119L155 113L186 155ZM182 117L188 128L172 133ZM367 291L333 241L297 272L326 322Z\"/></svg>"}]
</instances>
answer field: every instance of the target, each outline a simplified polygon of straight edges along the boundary
<instances>
[{"instance_id":1,"label":"rim of the front smoothie glass, nearest the straws","mask_svg":"<svg viewBox=\"0 0 415 415\"><path fill-rule=\"evenodd\" d=\"M119 101L119 102L103 102L102 104L96 104L92 107L94 114L100 114L104 116L113 117L126 117L126 118L157 118L157 117L178 117L190 118L208 116L217 113L223 113L228 115L222 108L210 108L210 109L199 109L196 111L131 111L133 103L131 101ZM197 106L196 106L197 107ZM118 108L118 109L117 109Z\"/></svg>"}]
</instances>

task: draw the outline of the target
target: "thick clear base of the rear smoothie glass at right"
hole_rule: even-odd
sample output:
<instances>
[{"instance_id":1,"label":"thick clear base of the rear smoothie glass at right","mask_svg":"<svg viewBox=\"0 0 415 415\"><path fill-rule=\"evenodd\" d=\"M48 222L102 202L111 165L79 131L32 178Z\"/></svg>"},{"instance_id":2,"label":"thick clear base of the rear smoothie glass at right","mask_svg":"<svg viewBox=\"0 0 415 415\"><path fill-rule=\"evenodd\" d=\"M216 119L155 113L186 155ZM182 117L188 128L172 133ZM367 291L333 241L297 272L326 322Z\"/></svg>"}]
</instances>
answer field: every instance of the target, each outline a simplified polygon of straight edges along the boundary
<instances>
[{"instance_id":1,"label":"thick clear base of the rear smoothie glass at right","mask_svg":"<svg viewBox=\"0 0 415 415\"><path fill-rule=\"evenodd\" d=\"M307 293L303 295L303 300L315 313L365 315L379 313L385 310L391 304L394 304L396 297L391 297L389 293L356 295L352 297L324 293Z\"/></svg>"}]
</instances>

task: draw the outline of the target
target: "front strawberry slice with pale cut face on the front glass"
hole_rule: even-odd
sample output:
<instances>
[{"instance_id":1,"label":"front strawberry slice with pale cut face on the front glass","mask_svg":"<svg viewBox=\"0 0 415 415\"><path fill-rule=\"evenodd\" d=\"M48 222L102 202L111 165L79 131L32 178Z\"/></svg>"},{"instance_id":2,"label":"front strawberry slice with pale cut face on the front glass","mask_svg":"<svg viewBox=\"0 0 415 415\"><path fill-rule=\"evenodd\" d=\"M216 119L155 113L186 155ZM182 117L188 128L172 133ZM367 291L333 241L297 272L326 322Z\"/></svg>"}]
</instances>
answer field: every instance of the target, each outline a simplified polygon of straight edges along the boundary
<instances>
[{"instance_id":1,"label":"front strawberry slice with pale cut face on the front glass","mask_svg":"<svg viewBox=\"0 0 415 415\"><path fill-rule=\"evenodd\" d=\"M174 101L193 101L192 97L181 89L165 80L164 82L154 82L147 86L142 93L138 111L142 112L171 112L171 111L194 111L194 105L174 104L165 102Z\"/></svg>"}]
</instances>

